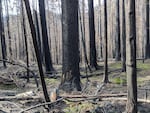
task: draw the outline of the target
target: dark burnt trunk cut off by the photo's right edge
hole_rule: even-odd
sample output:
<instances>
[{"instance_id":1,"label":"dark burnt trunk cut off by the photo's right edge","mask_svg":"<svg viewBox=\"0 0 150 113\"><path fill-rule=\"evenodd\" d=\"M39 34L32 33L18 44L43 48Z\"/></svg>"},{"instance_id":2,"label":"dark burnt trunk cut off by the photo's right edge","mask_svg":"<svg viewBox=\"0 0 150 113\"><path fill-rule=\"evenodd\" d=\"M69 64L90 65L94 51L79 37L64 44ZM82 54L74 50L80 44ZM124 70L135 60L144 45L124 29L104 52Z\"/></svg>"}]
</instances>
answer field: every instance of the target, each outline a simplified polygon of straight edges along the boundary
<instances>
[{"instance_id":1,"label":"dark burnt trunk cut off by the photo's right edge","mask_svg":"<svg viewBox=\"0 0 150 113\"><path fill-rule=\"evenodd\" d=\"M146 41L145 58L150 58L150 40L149 40L149 0L146 1Z\"/></svg>"}]
</instances>

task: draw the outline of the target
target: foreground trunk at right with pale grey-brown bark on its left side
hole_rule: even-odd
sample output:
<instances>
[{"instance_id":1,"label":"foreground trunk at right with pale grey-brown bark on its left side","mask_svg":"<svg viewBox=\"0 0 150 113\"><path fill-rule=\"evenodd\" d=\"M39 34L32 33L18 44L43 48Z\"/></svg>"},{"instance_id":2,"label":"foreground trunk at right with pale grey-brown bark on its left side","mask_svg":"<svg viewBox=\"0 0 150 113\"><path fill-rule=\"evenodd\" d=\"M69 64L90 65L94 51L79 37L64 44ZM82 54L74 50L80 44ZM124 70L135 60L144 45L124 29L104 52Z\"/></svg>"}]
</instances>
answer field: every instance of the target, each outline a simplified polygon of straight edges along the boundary
<instances>
[{"instance_id":1,"label":"foreground trunk at right with pale grey-brown bark on its left side","mask_svg":"<svg viewBox=\"0 0 150 113\"><path fill-rule=\"evenodd\" d=\"M129 36L127 37L127 113L137 113L136 19L135 0L129 0Z\"/></svg>"}]
</instances>

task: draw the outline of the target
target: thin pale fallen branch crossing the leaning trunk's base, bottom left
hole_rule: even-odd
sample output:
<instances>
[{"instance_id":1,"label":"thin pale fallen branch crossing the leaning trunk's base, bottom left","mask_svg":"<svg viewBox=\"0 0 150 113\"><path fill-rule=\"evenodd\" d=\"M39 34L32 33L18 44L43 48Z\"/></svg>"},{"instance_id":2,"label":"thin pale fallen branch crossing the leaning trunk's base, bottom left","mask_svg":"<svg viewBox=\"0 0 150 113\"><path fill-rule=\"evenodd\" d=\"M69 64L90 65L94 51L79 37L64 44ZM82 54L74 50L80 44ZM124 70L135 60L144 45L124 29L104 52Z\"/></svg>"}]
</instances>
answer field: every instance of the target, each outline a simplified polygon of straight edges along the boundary
<instances>
[{"instance_id":1,"label":"thin pale fallen branch crossing the leaning trunk's base, bottom left","mask_svg":"<svg viewBox=\"0 0 150 113\"><path fill-rule=\"evenodd\" d=\"M57 100L54 101L54 102L45 102L45 103L37 104L37 105L35 105L35 106L32 106L32 107L29 107L29 108L27 108L27 109L22 110L20 113L24 113L25 111L29 111L29 110L31 110L31 109L34 109L34 108L37 108L37 107L40 107L40 106L52 105L52 104L54 104L54 103L56 103L56 102L59 102L59 101L62 101L62 100L63 100L63 98L59 98L59 99L57 99Z\"/></svg>"}]
</instances>

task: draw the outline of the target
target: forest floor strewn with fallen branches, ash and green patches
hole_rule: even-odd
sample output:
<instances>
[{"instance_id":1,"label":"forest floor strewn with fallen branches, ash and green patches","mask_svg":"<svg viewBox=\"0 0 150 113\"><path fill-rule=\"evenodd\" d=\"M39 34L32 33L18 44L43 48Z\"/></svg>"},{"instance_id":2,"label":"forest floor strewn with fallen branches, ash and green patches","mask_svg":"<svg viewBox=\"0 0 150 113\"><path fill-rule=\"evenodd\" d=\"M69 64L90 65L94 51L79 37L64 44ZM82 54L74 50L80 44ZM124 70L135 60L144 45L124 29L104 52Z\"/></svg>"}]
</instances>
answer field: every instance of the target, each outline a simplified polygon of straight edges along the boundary
<instances>
[{"instance_id":1,"label":"forest floor strewn with fallen branches, ash and green patches","mask_svg":"<svg viewBox=\"0 0 150 113\"><path fill-rule=\"evenodd\" d=\"M125 113L127 85L121 62L109 61L109 84L101 82L103 62L99 62L99 66L99 70L87 72L89 80L84 66L81 66L83 91L59 91L60 97L51 103L49 113ZM30 67L38 74L36 65ZM58 72L55 77L45 79L49 94L60 84L61 66L56 65L55 69ZM47 113L46 107L39 105L44 103L41 85L37 90L34 79L26 83L25 75L26 70L20 66L9 65L7 69L0 66L0 113ZM150 60L144 63L138 60L137 81L138 113L150 113Z\"/></svg>"}]
</instances>

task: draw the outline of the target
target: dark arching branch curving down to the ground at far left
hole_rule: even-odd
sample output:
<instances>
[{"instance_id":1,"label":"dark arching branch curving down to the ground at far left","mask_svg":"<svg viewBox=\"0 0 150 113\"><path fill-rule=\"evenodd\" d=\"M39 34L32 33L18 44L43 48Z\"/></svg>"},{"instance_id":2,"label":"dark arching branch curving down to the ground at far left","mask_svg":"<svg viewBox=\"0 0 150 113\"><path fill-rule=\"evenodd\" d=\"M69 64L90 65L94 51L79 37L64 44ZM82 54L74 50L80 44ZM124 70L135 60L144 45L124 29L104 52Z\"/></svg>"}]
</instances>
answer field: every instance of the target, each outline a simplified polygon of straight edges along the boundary
<instances>
[{"instance_id":1,"label":"dark arching branch curving down to the ground at far left","mask_svg":"<svg viewBox=\"0 0 150 113\"><path fill-rule=\"evenodd\" d=\"M28 68L28 67L26 67L26 66L24 66L24 65L15 63L15 62L10 62L10 61L8 61L8 60L4 60L4 59L0 59L0 61L5 61L6 63L12 64L12 65L17 65L17 66L23 67L23 68L25 68L26 70L30 71L30 72L32 73L32 75L34 76L34 79L35 79L35 83L36 83L37 88L39 87L39 83L38 83L38 80L37 80L37 76L35 75L35 73L34 73L30 68Z\"/></svg>"}]
</instances>

